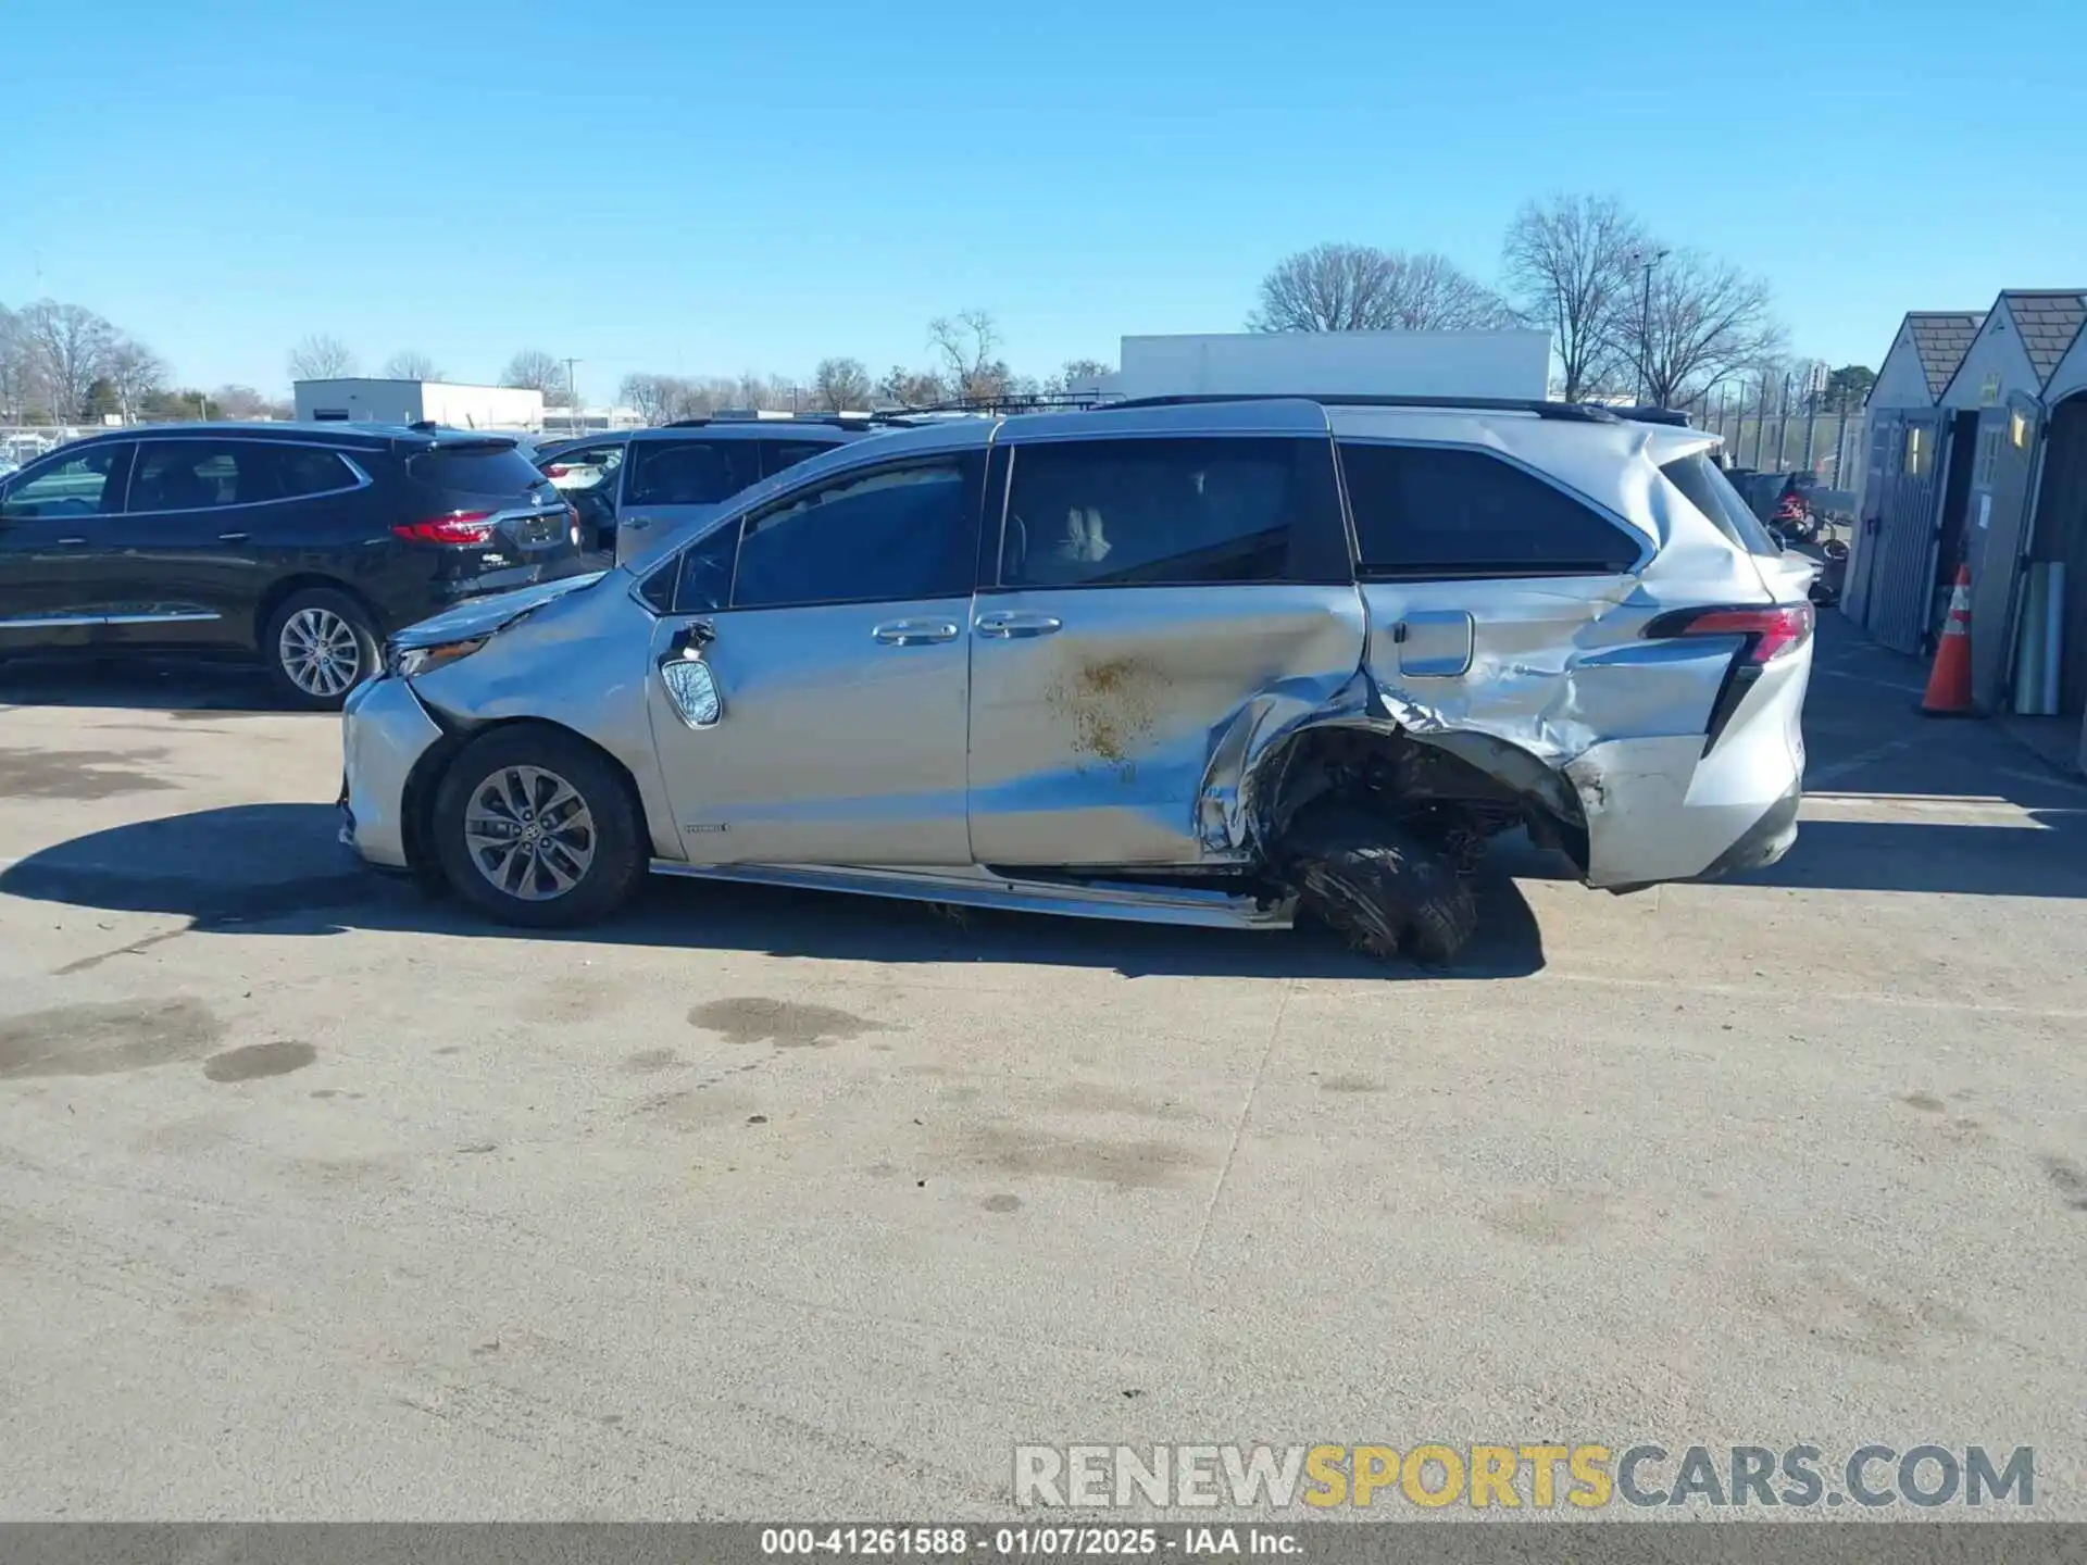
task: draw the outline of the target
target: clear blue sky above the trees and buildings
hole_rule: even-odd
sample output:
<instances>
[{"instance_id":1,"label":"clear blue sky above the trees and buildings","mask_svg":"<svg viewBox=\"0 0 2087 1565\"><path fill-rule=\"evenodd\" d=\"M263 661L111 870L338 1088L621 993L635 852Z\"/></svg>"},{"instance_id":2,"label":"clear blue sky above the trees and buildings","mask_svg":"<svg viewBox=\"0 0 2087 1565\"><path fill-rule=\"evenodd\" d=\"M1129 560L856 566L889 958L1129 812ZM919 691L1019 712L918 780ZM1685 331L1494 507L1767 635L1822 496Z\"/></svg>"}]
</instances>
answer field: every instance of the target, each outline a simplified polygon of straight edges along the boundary
<instances>
[{"instance_id":1,"label":"clear blue sky above the trees and buildings","mask_svg":"<svg viewBox=\"0 0 2087 1565\"><path fill-rule=\"evenodd\" d=\"M1041 374L1236 330L1317 240L1490 278L1584 190L1874 365L1905 309L2087 284L2083 79L2079 0L15 4L0 303L263 390L307 332L457 380L572 353L589 401L881 374L968 307Z\"/></svg>"}]
</instances>

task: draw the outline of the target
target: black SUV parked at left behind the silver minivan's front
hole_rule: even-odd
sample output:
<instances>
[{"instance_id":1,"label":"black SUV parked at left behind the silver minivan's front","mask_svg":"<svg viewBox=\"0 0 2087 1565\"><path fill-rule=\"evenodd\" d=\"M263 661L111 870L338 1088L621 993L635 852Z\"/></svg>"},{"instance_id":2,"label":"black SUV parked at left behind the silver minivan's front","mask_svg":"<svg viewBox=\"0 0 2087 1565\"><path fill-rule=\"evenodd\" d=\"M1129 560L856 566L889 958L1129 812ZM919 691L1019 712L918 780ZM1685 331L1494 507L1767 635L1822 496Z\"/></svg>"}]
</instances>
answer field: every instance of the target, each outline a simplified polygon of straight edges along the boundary
<instances>
[{"instance_id":1,"label":"black SUV parked at left behind the silver minivan's front","mask_svg":"<svg viewBox=\"0 0 2087 1565\"><path fill-rule=\"evenodd\" d=\"M584 570L503 436L340 424L113 430L0 480L0 657L257 655L338 709L386 632Z\"/></svg>"}]
</instances>

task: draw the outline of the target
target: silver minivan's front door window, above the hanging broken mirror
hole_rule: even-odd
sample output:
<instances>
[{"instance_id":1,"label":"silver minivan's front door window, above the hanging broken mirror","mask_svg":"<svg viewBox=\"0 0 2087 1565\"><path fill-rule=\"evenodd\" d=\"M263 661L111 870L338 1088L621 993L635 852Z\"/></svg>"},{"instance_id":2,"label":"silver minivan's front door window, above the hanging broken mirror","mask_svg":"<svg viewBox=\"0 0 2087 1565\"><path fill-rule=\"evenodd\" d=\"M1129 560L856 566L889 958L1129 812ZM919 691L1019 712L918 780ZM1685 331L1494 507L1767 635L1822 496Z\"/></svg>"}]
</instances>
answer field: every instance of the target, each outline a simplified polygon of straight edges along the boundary
<instances>
[{"instance_id":1,"label":"silver minivan's front door window, above the hanging broken mirror","mask_svg":"<svg viewBox=\"0 0 2087 1565\"><path fill-rule=\"evenodd\" d=\"M799 488L747 517L735 609L970 593L983 455L929 457Z\"/></svg>"}]
</instances>

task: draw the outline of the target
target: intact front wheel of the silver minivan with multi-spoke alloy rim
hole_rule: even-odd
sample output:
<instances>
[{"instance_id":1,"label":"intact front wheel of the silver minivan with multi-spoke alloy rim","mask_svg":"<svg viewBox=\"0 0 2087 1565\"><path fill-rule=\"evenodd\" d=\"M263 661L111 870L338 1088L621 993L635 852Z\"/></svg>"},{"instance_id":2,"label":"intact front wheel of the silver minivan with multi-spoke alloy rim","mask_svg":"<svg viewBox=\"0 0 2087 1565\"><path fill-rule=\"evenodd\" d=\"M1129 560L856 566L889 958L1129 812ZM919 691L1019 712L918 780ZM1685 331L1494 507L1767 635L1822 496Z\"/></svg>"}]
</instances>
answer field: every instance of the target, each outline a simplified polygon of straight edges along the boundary
<instances>
[{"instance_id":1,"label":"intact front wheel of the silver minivan with multi-spoke alloy rim","mask_svg":"<svg viewBox=\"0 0 2087 1565\"><path fill-rule=\"evenodd\" d=\"M451 762L434 843L457 895L524 929L605 918L645 874L645 833L616 766L543 724L495 728Z\"/></svg>"}]
</instances>

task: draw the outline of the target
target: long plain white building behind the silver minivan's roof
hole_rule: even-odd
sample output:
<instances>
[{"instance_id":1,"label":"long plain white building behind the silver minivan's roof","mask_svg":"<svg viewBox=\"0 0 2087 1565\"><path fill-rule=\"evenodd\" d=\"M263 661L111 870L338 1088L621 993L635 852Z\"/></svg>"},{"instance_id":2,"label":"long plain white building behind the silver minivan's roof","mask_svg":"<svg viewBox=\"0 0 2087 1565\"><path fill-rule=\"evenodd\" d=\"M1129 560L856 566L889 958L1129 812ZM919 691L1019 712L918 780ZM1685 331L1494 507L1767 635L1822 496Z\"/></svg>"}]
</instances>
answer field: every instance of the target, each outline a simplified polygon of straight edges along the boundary
<instances>
[{"instance_id":1,"label":"long plain white building behind the silver minivan's roof","mask_svg":"<svg viewBox=\"0 0 2087 1565\"><path fill-rule=\"evenodd\" d=\"M1102 396L1544 396L1544 332L1202 332L1127 336Z\"/></svg>"}]
</instances>

